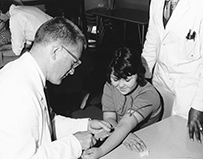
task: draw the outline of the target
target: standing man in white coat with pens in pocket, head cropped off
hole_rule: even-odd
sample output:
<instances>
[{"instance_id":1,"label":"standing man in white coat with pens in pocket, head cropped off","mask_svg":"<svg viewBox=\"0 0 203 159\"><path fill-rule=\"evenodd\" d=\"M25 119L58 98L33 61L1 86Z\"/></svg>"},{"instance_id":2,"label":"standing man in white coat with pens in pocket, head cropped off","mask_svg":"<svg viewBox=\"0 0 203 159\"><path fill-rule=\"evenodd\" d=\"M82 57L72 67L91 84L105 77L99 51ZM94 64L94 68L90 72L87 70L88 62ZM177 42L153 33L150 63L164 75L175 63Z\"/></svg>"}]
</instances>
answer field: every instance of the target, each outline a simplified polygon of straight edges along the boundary
<instances>
[{"instance_id":1,"label":"standing man in white coat with pens in pocket, head cropped off","mask_svg":"<svg viewBox=\"0 0 203 159\"><path fill-rule=\"evenodd\" d=\"M161 92L165 117L188 119L189 137L203 134L203 1L179 0L165 23L165 0L151 0L142 56ZM164 24L165 23L165 24ZM171 110L170 110L171 108ZM171 112L169 112L171 111Z\"/></svg>"}]
</instances>

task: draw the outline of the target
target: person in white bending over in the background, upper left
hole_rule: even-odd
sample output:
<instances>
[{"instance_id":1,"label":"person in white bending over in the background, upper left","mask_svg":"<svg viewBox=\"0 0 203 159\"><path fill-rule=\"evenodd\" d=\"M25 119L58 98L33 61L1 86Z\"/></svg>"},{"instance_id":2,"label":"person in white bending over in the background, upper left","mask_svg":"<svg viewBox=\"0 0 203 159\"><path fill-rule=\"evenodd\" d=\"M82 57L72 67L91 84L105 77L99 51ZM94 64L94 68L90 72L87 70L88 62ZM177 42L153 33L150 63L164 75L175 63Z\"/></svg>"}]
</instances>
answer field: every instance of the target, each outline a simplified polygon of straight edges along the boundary
<instances>
[{"instance_id":1,"label":"person in white bending over in the background, upper left","mask_svg":"<svg viewBox=\"0 0 203 159\"><path fill-rule=\"evenodd\" d=\"M21 55L23 49L30 48L37 29L52 17L34 6L16 5L13 0L0 0L0 19L9 20L11 45L0 49L12 48L4 54ZM7 55L8 56L8 55Z\"/></svg>"}]
</instances>

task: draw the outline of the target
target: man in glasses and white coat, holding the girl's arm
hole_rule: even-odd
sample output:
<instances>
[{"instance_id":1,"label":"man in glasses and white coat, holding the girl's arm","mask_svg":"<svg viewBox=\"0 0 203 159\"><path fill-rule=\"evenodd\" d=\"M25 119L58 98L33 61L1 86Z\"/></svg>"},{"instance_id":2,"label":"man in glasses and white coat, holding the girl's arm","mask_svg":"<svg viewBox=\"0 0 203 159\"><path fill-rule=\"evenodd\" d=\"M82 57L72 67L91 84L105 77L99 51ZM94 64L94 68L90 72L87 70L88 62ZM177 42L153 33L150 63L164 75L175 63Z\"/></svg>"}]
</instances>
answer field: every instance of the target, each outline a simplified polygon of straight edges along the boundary
<instances>
[{"instance_id":1,"label":"man in glasses and white coat, holding the girl's arm","mask_svg":"<svg viewBox=\"0 0 203 159\"><path fill-rule=\"evenodd\" d=\"M59 85L72 75L85 46L79 28L57 17L38 29L29 52L0 70L1 159L76 159L96 143L94 134L110 131L104 121L48 115L46 80Z\"/></svg>"}]
</instances>

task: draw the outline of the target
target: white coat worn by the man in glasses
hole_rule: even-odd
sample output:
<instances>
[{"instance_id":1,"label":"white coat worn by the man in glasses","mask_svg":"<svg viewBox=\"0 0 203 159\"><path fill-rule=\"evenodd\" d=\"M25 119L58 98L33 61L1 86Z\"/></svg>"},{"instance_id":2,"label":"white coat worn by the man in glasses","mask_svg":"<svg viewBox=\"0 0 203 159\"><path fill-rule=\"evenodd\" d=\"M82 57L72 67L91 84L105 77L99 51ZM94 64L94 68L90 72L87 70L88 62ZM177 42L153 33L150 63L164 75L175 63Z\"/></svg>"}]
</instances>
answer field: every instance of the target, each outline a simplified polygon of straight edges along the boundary
<instances>
[{"instance_id":1,"label":"white coat worn by the man in glasses","mask_svg":"<svg viewBox=\"0 0 203 159\"><path fill-rule=\"evenodd\" d=\"M55 117L51 142L44 95L45 78L29 53L0 71L0 158L76 159L82 149L73 133L86 131L88 119Z\"/></svg>"}]
</instances>

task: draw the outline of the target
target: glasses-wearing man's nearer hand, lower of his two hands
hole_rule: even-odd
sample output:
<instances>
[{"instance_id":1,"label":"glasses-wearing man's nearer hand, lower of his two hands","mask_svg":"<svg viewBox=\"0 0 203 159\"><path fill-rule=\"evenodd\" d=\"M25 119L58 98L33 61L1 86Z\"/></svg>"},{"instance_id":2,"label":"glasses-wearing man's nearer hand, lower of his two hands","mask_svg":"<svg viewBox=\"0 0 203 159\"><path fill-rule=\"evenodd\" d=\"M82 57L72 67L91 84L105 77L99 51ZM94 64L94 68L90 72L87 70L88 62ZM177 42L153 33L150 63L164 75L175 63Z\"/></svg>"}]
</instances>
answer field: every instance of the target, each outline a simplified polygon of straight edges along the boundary
<instances>
[{"instance_id":1,"label":"glasses-wearing man's nearer hand, lower of his two hands","mask_svg":"<svg viewBox=\"0 0 203 159\"><path fill-rule=\"evenodd\" d=\"M82 150L87 150L96 144L96 139L89 131L77 132L74 136L80 142Z\"/></svg>"}]
</instances>

